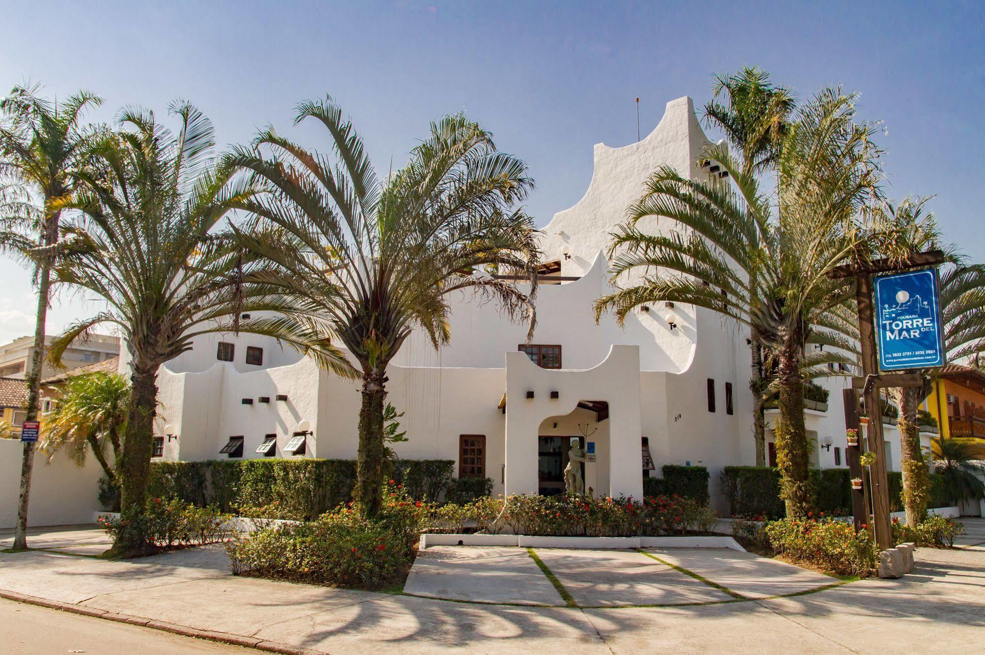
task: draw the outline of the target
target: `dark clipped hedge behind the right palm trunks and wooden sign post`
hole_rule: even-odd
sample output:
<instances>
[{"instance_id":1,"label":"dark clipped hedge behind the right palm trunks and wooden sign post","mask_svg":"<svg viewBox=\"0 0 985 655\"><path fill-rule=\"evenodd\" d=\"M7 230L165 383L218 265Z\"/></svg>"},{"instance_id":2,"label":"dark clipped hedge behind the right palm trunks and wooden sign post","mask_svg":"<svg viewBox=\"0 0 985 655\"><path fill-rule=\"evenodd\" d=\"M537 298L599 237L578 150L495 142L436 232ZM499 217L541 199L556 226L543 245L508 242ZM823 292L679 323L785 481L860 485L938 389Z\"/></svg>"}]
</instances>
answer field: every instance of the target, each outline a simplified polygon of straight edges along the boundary
<instances>
[{"instance_id":1,"label":"dark clipped hedge behind the right palm trunks and wooden sign post","mask_svg":"<svg viewBox=\"0 0 985 655\"><path fill-rule=\"evenodd\" d=\"M889 509L902 510L902 474L887 472L889 484ZM732 516L779 517L785 513L780 498L779 471L767 466L727 466L722 470L722 492L729 501ZM851 513L851 477L848 469L811 469L811 508L825 514L847 515ZM930 474L930 501L928 507L944 507L941 476Z\"/></svg>"}]
</instances>

